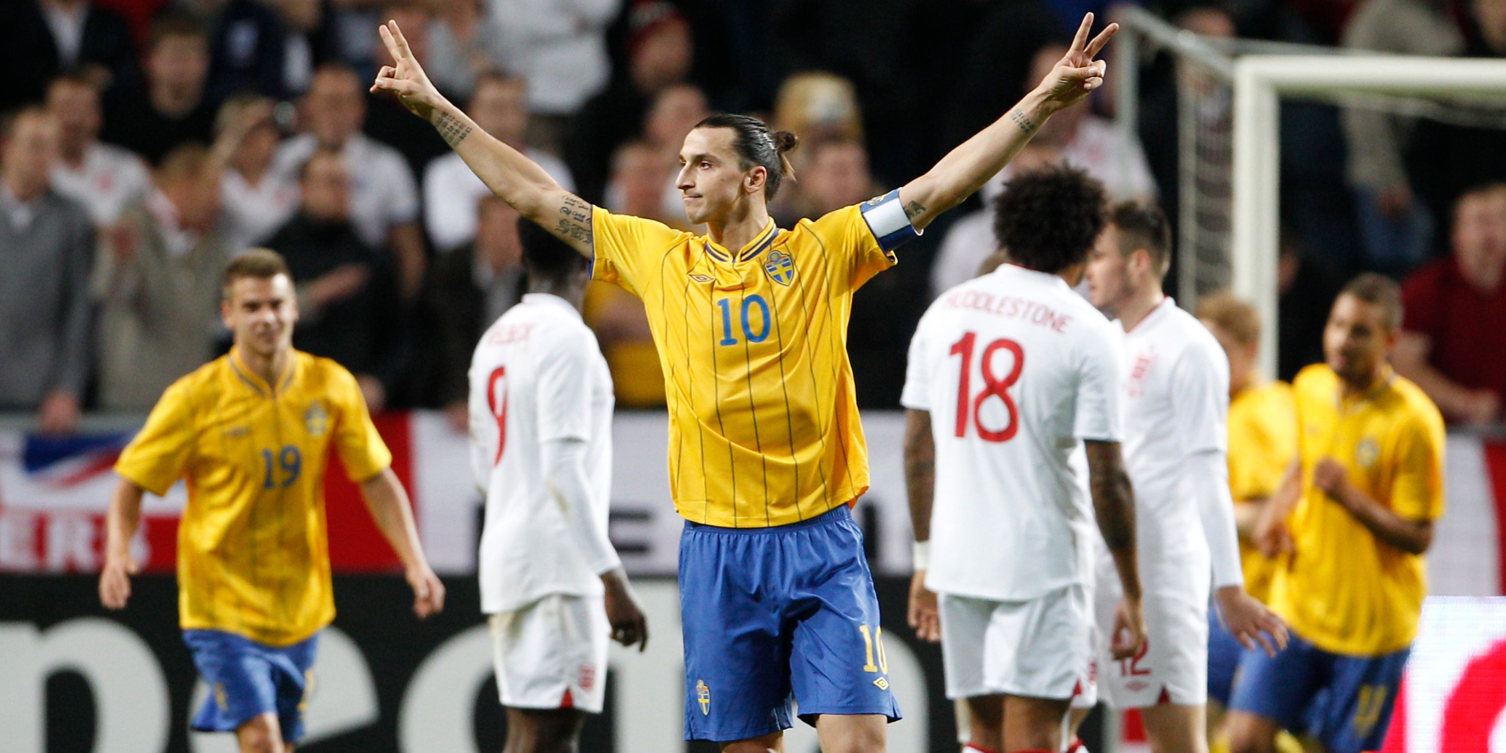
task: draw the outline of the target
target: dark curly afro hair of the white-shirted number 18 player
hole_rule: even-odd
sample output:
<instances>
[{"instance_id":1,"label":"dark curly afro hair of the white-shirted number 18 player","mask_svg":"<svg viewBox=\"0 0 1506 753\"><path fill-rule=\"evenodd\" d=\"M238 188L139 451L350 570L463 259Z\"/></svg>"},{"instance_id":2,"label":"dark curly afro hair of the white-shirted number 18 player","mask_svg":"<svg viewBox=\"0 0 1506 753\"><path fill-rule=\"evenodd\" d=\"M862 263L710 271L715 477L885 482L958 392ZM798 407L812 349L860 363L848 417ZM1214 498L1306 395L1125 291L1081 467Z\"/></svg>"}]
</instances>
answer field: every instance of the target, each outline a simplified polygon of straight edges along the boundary
<instances>
[{"instance_id":1,"label":"dark curly afro hair of the white-shirted number 18 player","mask_svg":"<svg viewBox=\"0 0 1506 753\"><path fill-rule=\"evenodd\" d=\"M1104 229L1104 184L1050 166L1020 173L994 199L994 236L1009 261L1056 274L1087 259Z\"/></svg>"}]
</instances>

